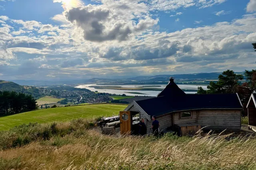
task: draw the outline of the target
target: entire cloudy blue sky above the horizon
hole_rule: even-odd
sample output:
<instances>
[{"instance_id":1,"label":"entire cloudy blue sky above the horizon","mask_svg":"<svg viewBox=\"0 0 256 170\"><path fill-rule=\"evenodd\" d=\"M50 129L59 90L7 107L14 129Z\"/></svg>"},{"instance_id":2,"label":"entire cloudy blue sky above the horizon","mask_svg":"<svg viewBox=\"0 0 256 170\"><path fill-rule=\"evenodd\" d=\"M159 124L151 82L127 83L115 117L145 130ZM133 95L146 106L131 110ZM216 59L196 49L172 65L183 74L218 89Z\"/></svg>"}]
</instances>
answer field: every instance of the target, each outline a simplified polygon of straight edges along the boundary
<instances>
[{"instance_id":1,"label":"entire cloudy blue sky above the horizon","mask_svg":"<svg viewBox=\"0 0 256 170\"><path fill-rule=\"evenodd\" d=\"M256 0L0 0L0 79L256 69Z\"/></svg>"}]
</instances>

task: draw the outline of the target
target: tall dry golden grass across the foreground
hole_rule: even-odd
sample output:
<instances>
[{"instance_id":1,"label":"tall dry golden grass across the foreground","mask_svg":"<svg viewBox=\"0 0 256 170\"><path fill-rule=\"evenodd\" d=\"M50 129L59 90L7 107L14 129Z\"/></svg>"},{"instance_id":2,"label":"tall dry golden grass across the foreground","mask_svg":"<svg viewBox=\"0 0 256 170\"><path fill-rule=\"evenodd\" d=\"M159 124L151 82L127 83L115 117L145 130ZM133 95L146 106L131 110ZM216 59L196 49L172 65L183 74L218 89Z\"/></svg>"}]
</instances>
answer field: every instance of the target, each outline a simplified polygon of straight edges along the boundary
<instances>
[{"instance_id":1,"label":"tall dry golden grass across the foreground","mask_svg":"<svg viewBox=\"0 0 256 170\"><path fill-rule=\"evenodd\" d=\"M254 170L256 167L254 136L232 137L209 132L194 137L172 134L162 138L118 137L102 135L99 129L90 126L85 128L86 122L57 123L57 132L49 138L2 149L0 169ZM59 133L70 127L74 130Z\"/></svg>"}]
</instances>

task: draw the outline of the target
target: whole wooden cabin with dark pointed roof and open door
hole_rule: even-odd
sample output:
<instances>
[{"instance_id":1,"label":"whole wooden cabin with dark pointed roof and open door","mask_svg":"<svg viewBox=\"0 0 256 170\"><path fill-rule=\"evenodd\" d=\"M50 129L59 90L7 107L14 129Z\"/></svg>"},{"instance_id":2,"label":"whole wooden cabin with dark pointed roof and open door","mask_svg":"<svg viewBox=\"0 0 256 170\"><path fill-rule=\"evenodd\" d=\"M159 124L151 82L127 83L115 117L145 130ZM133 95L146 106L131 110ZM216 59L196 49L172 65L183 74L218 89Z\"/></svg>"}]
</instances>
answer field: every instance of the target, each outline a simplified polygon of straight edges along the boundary
<instances>
[{"instance_id":1,"label":"whole wooden cabin with dark pointed roof and open door","mask_svg":"<svg viewBox=\"0 0 256 170\"><path fill-rule=\"evenodd\" d=\"M145 119L150 133L152 116L160 123L160 130L185 127L186 133L205 127L211 130L233 130L241 128L242 103L238 94L186 94L171 77L166 88L157 97L133 101L120 112L121 134L132 131L130 117L139 115ZM129 125L130 124L130 125ZM184 135L184 132L183 132Z\"/></svg>"}]
</instances>

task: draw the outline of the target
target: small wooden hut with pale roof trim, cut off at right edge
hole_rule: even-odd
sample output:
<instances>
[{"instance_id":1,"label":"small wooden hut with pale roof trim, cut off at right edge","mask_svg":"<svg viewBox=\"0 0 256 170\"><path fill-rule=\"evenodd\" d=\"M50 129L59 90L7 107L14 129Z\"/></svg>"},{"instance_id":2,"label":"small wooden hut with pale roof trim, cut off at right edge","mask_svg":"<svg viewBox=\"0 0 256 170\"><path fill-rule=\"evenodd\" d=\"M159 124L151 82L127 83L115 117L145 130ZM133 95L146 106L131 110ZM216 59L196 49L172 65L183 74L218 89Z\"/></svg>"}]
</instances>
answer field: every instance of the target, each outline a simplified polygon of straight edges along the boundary
<instances>
[{"instance_id":1,"label":"small wooden hut with pale roof trim, cut off at right edge","mask_svg":"<svg viewBox=\"0 0 256 170\"><path fill-rule=\"evenodd\" d=\"M252 94L246 108L248 109L248 127L256 132L256 94Z\"/></svg>"}]
</instances>

